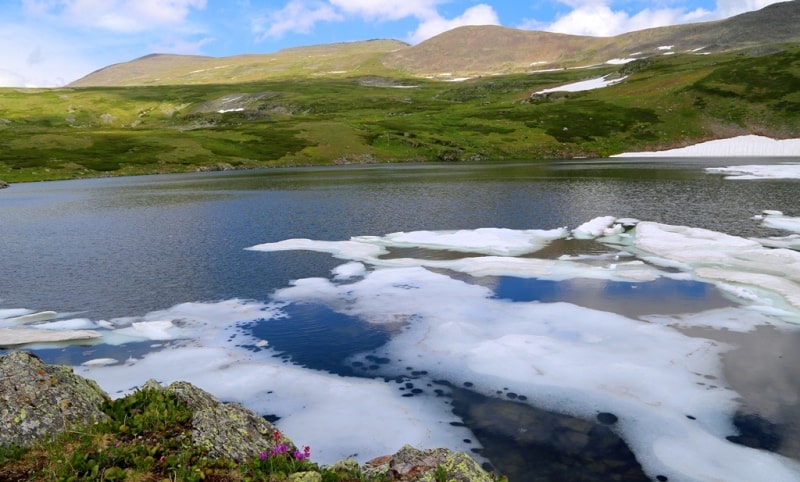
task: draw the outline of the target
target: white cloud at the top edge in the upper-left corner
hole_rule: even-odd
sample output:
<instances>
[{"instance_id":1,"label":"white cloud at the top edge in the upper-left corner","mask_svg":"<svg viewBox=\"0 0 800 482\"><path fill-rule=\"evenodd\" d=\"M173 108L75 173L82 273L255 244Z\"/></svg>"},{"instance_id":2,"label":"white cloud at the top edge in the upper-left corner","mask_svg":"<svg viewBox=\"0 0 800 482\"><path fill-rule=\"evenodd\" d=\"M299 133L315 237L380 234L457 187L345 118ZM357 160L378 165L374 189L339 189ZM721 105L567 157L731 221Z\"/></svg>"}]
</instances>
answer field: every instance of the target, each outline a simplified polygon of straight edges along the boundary
<instances>
[{"instance_id":1,"label":"white cloud at the top edge in the upper-left corner","mask_svg":"<svg viewBox=\"0 0 800 482\"><path fill-rule=\"evenodd\" d=\"M37 16L114 32L141 32L181 25L206 0L23 0Z\"/></svg>"}]
</instances>

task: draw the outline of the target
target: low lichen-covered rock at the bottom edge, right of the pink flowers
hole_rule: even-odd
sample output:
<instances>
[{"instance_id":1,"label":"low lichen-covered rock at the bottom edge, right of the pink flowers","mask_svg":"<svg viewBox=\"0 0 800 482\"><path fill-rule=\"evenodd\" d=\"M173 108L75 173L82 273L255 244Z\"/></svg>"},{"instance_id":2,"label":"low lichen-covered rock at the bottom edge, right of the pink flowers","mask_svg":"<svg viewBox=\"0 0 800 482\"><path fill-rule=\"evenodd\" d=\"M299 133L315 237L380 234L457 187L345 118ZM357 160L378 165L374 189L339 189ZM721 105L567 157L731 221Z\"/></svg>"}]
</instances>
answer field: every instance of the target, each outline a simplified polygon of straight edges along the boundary
<instances>
[{"instance_id":1,"label":"low lichen-covered rock at the bottom edge, right of the pink flowers","mask_svg":"<svg viewBox=\"0 0 800 482\"><path fill-rule=\"evenodd\" d=\"M419 450L409 445L396 454L378 457L364 465L365 476L398 482L492 482L478 462L462 452L438 448Z\"/></svg>"}]
</instances>

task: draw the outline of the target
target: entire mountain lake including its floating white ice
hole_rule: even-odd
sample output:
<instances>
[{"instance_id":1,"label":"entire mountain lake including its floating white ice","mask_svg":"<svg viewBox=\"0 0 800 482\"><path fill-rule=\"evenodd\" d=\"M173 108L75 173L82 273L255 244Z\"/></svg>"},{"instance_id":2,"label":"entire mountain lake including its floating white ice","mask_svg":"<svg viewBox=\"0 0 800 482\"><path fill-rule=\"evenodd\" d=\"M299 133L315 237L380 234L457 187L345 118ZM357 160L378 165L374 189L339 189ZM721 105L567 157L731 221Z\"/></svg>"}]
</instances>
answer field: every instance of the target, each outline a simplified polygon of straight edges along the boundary
<instances>
[{"instance_id":1,"label":"entire mountain lake including its floating white ice","mask_svg":"<svg viewBox=\"0 0 800 482\"><path fill-rule=\"evenodd\" d=\"M12 185L0 326L55 311L25 328L101 337L7 350L112 396L190 381L319 463L409 443L511 481L800 480L800 181L713 170L797 161Z\"/></svg>"}]
</instances>

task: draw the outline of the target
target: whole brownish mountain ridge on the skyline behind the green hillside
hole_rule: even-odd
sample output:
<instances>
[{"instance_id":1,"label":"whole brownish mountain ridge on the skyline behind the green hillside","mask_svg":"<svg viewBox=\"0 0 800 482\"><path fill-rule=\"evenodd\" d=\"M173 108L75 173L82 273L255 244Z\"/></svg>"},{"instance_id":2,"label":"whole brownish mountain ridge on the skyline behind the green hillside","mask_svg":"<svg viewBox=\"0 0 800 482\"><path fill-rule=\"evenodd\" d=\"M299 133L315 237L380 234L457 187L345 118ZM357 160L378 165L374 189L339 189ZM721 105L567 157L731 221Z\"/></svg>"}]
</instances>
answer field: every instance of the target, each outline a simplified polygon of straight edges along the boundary
<instances>
[{"instance_id":1,"label":"whole brownish mountain ridge on the skyline behind the green hillside","mask_svg":"<svg viewBox=\"0 0 800 482\"><path fill-rule=\"evenodd\" d=\"M701 54L800 42L800 22L796 19L800 19L800 1L792 0L723 20L613 37L484 25L458 27L413 46L399 40L371 39L227 57L149 54L98 69L68 87L244 83L375 74L475 77L579 68L676 52Z\"/></svg>"}]
</instances>

